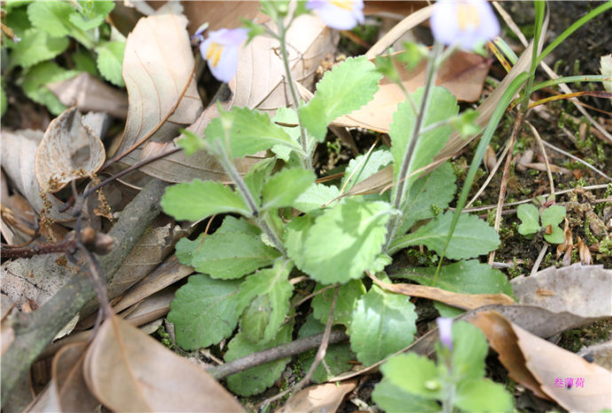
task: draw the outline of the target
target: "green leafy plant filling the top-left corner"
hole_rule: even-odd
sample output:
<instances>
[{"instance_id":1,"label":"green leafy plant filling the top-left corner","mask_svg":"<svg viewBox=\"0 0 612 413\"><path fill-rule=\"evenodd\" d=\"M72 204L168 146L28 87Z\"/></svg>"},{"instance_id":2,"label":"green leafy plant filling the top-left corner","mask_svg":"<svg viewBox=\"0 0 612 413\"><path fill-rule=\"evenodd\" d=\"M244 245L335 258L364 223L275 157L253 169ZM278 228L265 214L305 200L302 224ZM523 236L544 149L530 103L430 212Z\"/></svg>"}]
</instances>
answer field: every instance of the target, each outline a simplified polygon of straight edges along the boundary
<instances>
[{"instance_id":1,"label":"green leafy plant filling the top-left corner","mask_svg":"<svg viewBox=\"0 0 612 413\"><path fill-rule=\"evenodd\" d=\"M6 27L14 33L12 39L3 35L3 52L5 48L8 56L6 65L3 60L3 79L14 76L27 97L53 115L67 107L46 87L49 83L87 72L125 86L125 38L105 22L113 1L13 1L3 4L3 9ZM79 44L74 49L68 49L71 38ZM5 107L3 98L3 114Z\"/></svg>"}]
</instances>

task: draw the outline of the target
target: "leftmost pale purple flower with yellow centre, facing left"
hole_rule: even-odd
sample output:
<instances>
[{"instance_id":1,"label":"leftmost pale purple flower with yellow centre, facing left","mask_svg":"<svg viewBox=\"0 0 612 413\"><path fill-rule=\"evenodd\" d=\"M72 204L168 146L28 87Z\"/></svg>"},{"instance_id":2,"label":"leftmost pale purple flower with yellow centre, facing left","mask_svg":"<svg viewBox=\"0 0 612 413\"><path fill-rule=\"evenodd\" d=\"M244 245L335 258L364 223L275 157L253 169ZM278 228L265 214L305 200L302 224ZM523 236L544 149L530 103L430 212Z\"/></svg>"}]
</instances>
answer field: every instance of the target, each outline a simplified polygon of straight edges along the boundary
<instances>
[{"instance_id":1,"label":"leftmost pale purple flower with yellow centre, facing left","mask_svg":"<svg viewBox=\"0 0 612 413\"><path fill-rule=\"evenodd\" d=\"M238 68L238 50L247 40L246 28L222 28L210 32L208 39L200 44L202 58L208 61L208 68L221 82L230 82ZM201 36L196 33L195 36Z\"/></svg>"}]
</instances>

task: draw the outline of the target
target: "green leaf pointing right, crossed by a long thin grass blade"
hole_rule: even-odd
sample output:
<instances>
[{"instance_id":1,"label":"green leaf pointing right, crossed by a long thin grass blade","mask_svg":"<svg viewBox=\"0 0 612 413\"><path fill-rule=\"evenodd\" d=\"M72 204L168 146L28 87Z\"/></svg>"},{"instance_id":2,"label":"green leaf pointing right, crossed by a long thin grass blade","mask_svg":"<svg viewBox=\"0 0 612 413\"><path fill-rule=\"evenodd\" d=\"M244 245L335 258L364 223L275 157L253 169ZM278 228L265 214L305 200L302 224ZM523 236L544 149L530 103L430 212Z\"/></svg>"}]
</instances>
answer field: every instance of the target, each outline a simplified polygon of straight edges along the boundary
<instances>
[{"instance_id":1,"label":"green leaf pointing right, crossed by a long thin grass blade","mask_svg":"<svg viewBox=\"0 0 612 413\"><path fill-rule=\"evenodd\" d=\"M391 242L389 254L412 245L425 245L438 255L442 254L451 221L452 211L438 215L413 233L396 238ZM499 235L485 221L473 215L461 214L445 255L451 259L474 258L495 250L498 245Z\"/></svg>"}]
</instances>

